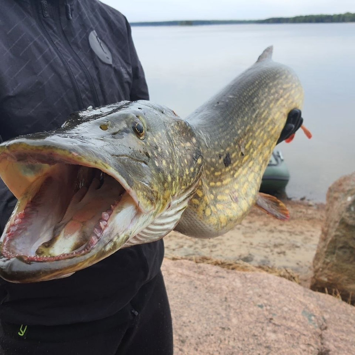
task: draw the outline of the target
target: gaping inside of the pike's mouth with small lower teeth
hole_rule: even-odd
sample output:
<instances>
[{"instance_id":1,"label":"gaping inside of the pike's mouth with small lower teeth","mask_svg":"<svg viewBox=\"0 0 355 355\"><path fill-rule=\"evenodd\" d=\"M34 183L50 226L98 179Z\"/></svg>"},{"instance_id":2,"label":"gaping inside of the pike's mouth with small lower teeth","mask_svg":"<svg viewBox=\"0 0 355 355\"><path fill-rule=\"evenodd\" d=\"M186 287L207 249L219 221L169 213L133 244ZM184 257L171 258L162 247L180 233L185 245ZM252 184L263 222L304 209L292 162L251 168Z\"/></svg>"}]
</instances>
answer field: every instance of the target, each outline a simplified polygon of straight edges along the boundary
<instances>
[{"instance_id":1,"label":"gaping inside of the pike's mouth with small lower teeth","mask_svg":"<svg viewBox=\"0 0 355 355\"><path fill-rule=\"evenodd\" d=\"M122 198L130 198L124 187L97 168L51 164L19 198L1 238L2 255L26 262L84 255L103 237Z\"/></svg>"}]
</instances>

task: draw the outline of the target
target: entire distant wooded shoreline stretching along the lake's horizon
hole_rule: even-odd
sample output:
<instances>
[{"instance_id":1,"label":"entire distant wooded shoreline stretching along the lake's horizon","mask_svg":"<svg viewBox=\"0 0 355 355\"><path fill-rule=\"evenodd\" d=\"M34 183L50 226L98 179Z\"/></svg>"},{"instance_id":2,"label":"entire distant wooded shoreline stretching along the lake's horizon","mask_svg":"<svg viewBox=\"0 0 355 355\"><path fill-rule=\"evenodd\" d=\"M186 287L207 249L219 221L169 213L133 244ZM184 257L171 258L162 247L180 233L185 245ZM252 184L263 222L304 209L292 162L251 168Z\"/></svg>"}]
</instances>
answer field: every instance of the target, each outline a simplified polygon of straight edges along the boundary
<instances>
[{"instance_id":1,"label":"entire distant wooded shoreline stretching along the lake's horizon","mask_svg":"<svg viewBox=\"0 0 355 355\"><path fill-rule=\"evenodd\" d=\"M305 15L295 17L271 17L265 20L185 20L132 22L131 26L199 26L207 24L239 24L239 23L321 23L321 22L355 22L355 13L346 12L337 15Z\"/></svg>"}]
</instances>

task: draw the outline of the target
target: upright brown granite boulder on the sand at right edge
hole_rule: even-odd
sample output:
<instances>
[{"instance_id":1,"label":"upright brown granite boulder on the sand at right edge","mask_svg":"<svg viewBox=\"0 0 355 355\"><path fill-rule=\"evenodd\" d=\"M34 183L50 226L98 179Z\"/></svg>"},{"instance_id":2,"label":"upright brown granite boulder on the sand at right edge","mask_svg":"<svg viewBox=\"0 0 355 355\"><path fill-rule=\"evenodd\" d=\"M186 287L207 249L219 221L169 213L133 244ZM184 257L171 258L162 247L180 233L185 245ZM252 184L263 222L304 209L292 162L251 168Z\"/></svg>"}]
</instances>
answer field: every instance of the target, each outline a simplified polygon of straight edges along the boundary
<instances>
[{"instance_id":1,"label":"upright brown granite boulder on the sand at right edge","mask_svg":"<svg viewBox=\"0 0 355 355\"><path fill-rule=\"evenodd\" d=\"M355 302L355 172L328 189L326 220L313 259L311 289Z\"/></svg>"}]
</instances>

